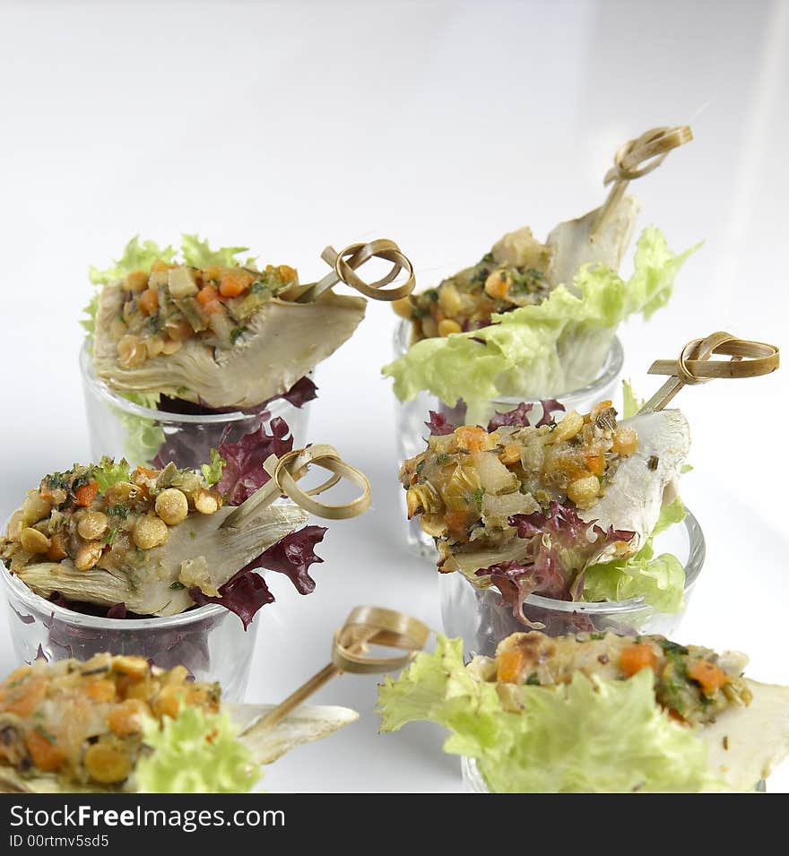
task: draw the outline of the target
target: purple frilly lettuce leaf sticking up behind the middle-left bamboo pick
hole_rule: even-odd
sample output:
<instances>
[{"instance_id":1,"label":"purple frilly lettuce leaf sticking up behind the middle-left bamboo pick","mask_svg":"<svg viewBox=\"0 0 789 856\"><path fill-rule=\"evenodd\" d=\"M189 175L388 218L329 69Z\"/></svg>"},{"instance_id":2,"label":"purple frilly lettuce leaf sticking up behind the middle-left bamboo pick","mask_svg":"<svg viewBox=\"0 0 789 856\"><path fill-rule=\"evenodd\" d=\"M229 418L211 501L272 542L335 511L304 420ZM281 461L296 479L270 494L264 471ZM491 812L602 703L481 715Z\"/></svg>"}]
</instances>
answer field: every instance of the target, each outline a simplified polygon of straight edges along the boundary
<instances>
[{"instance_id":1,"label":"purple frilly lettuce leaf sticking up behind the middle-left bamboo pick","mask_svg":"<svg viewBox=\"0 0 789 856\"><path fill-rule=\"evenodd\" d=\"M216 488L227 497L229 506L240 506L271 479L263 469L270 454L280 457L293 448L293 437L288 436L290 428L284 419L272 419L269 427L271 434L266 434L261 425L241 437L238 443L225 440L217 448L225 460L225 468Z\"/></svg>"}]
</instances>

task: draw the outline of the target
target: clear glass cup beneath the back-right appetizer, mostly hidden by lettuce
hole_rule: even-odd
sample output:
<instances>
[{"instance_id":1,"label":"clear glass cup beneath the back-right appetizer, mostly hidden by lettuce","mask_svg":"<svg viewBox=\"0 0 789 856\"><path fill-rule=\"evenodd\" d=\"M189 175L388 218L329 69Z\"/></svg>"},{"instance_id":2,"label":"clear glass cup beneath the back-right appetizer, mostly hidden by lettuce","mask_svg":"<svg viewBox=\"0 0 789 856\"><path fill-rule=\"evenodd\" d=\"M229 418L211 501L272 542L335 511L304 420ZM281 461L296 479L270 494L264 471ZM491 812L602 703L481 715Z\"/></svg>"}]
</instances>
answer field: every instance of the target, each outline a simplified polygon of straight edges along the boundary
<instances>
[{"instance_id":1,"label":"clear glass cup beneath the back-right appetizer, mostly hidden by lettuce","mask_svg":"<svg viewBox=\"0 0 789 856\"><path fill-rule=\"evenodd\" d=\"M411 323L403 321L395 330L395 359L402 357L408 350L411 339ZM580 412L590 411L594 404L612 399L616 392L624 352L618 338L614 337L611 348L603 360L598 376L579 389L569 392L557 390L551 393L551 398L558 398L568 411ZM490 416L494 412L506 413L523 402L522 398L502 398L490 402ZM534 417L542 415L539 400L526 399L525 403L532 403ZM442 402L436 395L425 392L418 393L410 402L399 402L395 399L396 408L396 431L397 431L397 460L403 463L406 458L412 458L425 450L425 440L429 435L425 422L429 419L429 411L443 413L447 421L454 425L463 425L465 418L465 406L463 402L455 402L450 405ZM408 520L408 512L405 507L405 491L401 490L400 504L403 511L403 520L406 522L405 539L409 549L420 556L435 559L437 556L433 539L422 532L419 520L414 518Z\"/></svg>"}]
</instances>

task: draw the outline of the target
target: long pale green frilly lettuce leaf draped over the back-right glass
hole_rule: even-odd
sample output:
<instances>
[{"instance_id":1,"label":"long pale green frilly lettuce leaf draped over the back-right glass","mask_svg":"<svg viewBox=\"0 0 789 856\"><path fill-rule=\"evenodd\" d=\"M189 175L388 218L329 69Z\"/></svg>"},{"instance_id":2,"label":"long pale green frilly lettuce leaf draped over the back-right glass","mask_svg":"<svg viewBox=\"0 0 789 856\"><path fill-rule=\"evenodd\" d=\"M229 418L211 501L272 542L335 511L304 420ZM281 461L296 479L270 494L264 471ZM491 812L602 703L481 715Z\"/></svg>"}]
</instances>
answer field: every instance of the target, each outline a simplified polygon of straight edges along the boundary
<instances>
[{"instance_id":1,"label":"long pale green frilly lettuce leaf draped over the back-right glass","mask_svg":"<svg viewBox=\"0 0 789 856\"><path fill-rule=\"evenodd\" d=\"M449 404L463 399L470 417L480 402L560 395L594 379L621 321L637 312L649 318L665 306L694 249L674 255L663 232L648 227L638 238L629 281L602 265L585 265L573 281L580 297L558 285L542 303L493 316L481 330L414 343L383 373L394 378L401 401L428 390Z\"/></svg>"}]
</instances>

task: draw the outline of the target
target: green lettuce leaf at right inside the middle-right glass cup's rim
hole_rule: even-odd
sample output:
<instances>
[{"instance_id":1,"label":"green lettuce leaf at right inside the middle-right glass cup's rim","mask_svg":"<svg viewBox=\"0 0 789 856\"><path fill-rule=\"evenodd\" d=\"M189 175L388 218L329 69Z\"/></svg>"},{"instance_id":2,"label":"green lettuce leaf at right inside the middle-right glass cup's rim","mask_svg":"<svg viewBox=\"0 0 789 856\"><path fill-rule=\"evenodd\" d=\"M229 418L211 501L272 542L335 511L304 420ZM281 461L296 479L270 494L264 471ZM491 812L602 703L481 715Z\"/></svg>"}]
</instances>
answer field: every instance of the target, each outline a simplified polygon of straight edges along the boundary
<instances>
[{"instance_id":1,"label":"green lettuce leaf at right inside the middle-right glass cup's rim","mask_svg":"<svg viewBox=\"0 0 789 856\"><path fill-rule=\"evenodd\" d=\"M643 597L659 612L672 614L682 607L685 568L671 553L655 556L655 535L665 532L686 516L680 497L664 503L655 530L633 556L586 568L584 601L627 601Z\"/></svg>"}]
</instances>

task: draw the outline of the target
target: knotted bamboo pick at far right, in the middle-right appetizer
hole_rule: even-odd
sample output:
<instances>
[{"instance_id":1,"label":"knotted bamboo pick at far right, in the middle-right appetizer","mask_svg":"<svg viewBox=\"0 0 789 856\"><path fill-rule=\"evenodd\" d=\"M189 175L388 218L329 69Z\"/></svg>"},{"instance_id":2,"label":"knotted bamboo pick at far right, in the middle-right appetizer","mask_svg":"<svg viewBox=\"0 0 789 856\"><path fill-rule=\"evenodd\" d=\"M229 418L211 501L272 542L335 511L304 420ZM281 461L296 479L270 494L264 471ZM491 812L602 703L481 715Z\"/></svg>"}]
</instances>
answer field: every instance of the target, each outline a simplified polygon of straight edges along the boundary
<instances>
[{"instance_id":1,"label":"knotted bamboo pick at far right, in the middle-right appetizer","mask_svg":"<svg viewBox=\"0 0 789 856\"><path fill-rule=\"evenodd\" d=\"M722 354L731 359L711 359ZM737 339L731 333L711 333L694 339L681 350L678 359L657 359L650 375L671 375L639 412L661 411L685 385L706 384L715 377L758 377L780 366L780 351L766 342Z\"/></svg>"}]
</instances>

